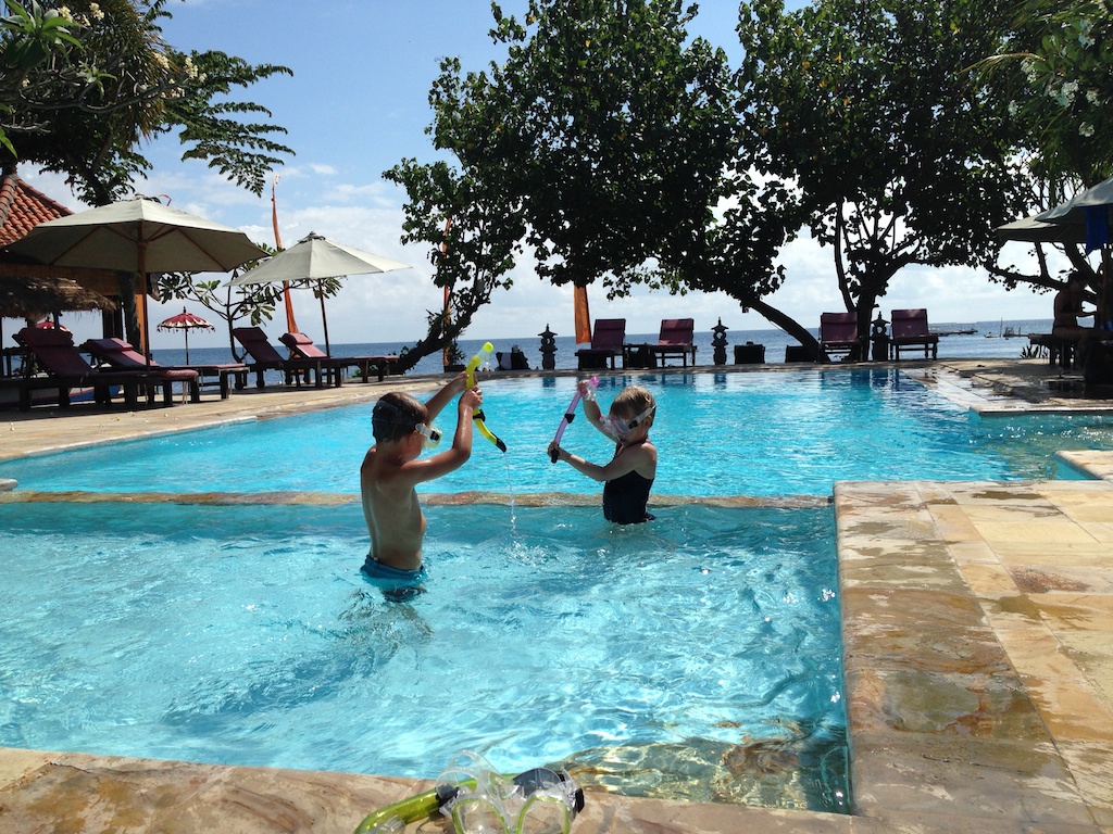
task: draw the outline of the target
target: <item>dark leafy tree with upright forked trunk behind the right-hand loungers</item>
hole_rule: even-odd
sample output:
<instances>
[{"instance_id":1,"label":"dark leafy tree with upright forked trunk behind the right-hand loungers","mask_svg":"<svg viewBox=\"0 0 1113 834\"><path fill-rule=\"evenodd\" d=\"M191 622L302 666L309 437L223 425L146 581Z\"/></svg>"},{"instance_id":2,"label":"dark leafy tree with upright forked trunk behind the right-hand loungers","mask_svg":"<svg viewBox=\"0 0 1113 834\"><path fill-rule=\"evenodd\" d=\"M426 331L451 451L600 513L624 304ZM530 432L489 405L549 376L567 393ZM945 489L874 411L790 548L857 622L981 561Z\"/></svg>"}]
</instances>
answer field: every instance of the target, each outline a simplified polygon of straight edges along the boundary
<instances>
[{"instance_id":1,"label":"dark leafy tree with upright forked trunk behind the right-hand loungers","mask_svg":"<svg viewBox=\"0 0 1113 834\"><path fill-rule=\"evenodd\" d=\"M740 14L751 161L799 190L860 337L905 267L993 259L1025 178L1006 102L966 70L999 44L999 3L760 0Z\"/></svg>"}]
</instances>

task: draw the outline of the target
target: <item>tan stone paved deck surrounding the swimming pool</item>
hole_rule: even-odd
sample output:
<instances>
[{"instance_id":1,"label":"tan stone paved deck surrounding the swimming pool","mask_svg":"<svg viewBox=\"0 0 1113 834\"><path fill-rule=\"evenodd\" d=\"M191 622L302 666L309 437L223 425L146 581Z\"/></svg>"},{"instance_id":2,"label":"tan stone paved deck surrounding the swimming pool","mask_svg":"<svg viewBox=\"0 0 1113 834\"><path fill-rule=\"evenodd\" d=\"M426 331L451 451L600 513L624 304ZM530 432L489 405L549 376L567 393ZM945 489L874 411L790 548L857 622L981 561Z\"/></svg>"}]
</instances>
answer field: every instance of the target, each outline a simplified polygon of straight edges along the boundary
<instances>
[{"instance_id":1,"label":"tan stone paved deck surrounding the swimming pool","mask_svg":"<svg viewBox=\"0 0 1113 834\"><path fill-rule=\"evenodd\" d=\"M984 415L1113 413L1113 400L1058 396L1042 383L1057 371L1038 360L902 368ZM10 415L0 478L2 460L30 451L331 407L397 386ZM573 833L1113 832L1113 453L1063 459L1092 479L836 485L854 815L590 793ZM426 786L0 748L0 832L351 832Z\"/></svg>"}]
</instances>

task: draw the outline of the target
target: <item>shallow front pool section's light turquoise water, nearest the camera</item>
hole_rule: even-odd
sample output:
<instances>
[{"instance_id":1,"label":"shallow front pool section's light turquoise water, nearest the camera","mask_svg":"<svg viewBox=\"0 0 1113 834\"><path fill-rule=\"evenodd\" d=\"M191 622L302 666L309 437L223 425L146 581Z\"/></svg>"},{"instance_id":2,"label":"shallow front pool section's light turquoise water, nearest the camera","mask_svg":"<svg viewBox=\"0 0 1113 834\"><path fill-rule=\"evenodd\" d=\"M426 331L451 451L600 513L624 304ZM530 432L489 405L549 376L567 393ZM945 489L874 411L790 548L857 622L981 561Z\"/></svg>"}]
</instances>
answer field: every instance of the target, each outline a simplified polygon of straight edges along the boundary
<instances>
[{"instance_id":1,"label":"shallow front pool section's light turquoise water, nearest the camera","mask_svg":"<svg viewBox=\"0 0 1113 834\"><path fill-rule=\"evenodd\" d=\"M110 507L0 505L0 744L848 807L828 509L433 506L397 603L357 505Z\"/></svg>"}]
</instances>

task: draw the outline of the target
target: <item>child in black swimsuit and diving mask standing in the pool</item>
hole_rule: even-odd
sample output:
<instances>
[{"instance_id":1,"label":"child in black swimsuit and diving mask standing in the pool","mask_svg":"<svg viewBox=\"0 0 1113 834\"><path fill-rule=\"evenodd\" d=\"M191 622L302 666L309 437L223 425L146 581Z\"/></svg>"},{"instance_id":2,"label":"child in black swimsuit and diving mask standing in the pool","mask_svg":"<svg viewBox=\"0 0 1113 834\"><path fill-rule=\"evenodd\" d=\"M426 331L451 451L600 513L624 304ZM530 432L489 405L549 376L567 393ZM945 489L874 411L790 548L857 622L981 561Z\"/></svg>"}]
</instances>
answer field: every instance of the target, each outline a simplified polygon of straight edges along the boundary
<instances>
[{"instance_id":1,"label":"child in black swimsuit and diving mask standing in the pool","mask_svg":"<svg viewBox=\"0 0 1113 834\"><path fill-rule=\"evenodd\" d=\"M580 393L588 421L615 441L614 457L600 466L565 451L555 443L549 444L550 456L555 451L558 460L567 460L573 469L603 481L603 517L608 522L651 522L653 516L646 505L657 477L657 447L649 441L649 429L657 411L653 395L639 386L628 386L603 417L595 401L595 389L587 380L580 380Z\"/></svg>"}]
</instances>

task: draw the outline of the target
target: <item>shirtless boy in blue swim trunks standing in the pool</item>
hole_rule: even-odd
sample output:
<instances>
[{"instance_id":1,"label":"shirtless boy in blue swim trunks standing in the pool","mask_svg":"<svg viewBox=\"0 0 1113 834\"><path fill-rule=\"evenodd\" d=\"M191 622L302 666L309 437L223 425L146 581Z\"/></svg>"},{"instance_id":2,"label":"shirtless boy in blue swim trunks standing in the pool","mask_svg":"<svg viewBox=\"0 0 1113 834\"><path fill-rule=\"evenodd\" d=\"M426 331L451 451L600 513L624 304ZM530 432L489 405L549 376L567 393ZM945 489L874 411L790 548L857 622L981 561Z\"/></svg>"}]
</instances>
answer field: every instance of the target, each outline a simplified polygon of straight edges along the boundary
<instances>
[{"instance_id":1,"label":"shirtless boy in blue swim trunks standing in the pool","mask_svg":"<svg viewBox=\"0 0 1113 834\"><path fill-rule=\"evenodd\" d=\"M375 445L359 467L371 550L361 569L384 589L416 588L425 579L421 558L425 514L414 487L459 469L471 457L472 415L483 405L483 394L479 386L469 389L466 379L461 374L424 405L408 394L391 391L372 411ZM418 460L422 448L441 439L433 418L457 394L452 448Z\"/></svg>"}]
</instances>

